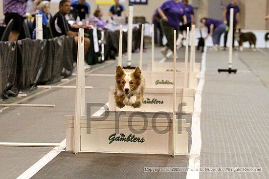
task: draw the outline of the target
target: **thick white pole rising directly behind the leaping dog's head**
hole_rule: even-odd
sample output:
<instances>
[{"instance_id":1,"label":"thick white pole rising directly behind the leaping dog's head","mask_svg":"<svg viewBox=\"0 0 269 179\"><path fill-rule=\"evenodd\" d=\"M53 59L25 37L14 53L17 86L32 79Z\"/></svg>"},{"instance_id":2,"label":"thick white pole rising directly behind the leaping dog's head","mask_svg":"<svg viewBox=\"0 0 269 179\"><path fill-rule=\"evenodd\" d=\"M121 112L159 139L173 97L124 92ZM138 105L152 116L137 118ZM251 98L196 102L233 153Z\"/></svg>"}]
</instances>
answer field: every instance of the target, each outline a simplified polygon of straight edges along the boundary
<instances>
[{"instance_id":1,"label":"thick white pole rising directly behind the leaping dog's head","mask_svg":"<svg viewBox=\"0 0 269 179\"><path fill-rule=\"evenodd\" d=\"M133 17L134 17L134 6L129 5L129 15L128 15L128 44L127 44L127 66L132 65L132 40L133 40Z\"/></svg>"}]
</instances>

